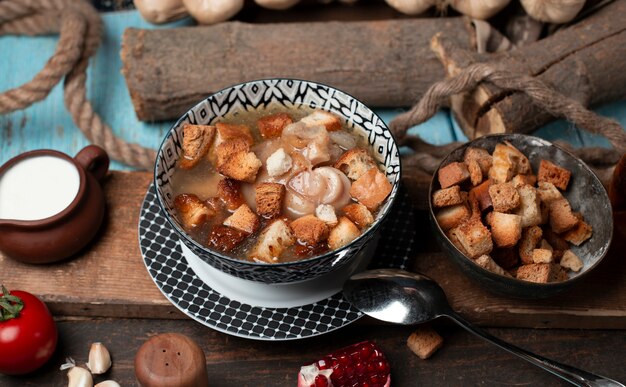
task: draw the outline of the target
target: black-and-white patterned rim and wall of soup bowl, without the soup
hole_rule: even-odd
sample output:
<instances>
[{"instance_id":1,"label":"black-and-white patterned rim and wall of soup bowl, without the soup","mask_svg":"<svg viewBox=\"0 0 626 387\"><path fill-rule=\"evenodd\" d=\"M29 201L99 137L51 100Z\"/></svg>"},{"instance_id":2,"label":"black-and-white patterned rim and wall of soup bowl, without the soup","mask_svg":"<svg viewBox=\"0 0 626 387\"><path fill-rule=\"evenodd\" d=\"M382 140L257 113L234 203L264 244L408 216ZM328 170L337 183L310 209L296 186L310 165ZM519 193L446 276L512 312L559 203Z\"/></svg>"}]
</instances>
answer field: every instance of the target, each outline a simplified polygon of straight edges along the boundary
<instances>
[{"instance_id":1,"label":"black-and-white patterned rim and wall of soup bowl, without the soup","mask_svg":"<svg viewBox=\"0 0 626 387\"><path fill-rule=\"evenodd\" d=\"M377 213L374 224L348 245L316 257L295 262L267 264L239 260L194 241L181 227L173 209L171 177L182 155L185 123L211 125L233 112L268 106L322 109L338 115L348 130L363 137L374 157L384 165L392 191ZM235 85L209 96L187 111L168 131L154 166L154 181L161 210L180 240L207 264L232 276L264 283L293 283L336 270L359 256L389 213L400 183L400 154L391 132L378 115L356 98L319 83L296 79L265 79Z\"/></svg>"}]
</instances>

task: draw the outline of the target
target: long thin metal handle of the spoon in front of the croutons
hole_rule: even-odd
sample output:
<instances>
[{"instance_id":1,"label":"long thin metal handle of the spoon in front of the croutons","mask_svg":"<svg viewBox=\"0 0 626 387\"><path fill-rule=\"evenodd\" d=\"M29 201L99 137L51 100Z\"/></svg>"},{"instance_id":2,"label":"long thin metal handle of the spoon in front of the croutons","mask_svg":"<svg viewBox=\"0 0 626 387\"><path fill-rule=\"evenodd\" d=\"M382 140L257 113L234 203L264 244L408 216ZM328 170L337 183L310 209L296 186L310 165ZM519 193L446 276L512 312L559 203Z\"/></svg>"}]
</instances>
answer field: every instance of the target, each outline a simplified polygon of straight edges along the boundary
<instances>
[{"instance_id":1,"label":"long thin metal handle of the spoon in front of the croutons","mask_svg":"<svg viewBox=\"0 0 626 387\"><path fill-rule=\"evenodd\" d=\"M546 359L545 357L536 355L532 352L509 344L506 341L500 340L499 338L492 336L491 334L471 324L452 310L447 313L447 316L454 322L462 326L465 330L489 341L492 344L497 345L498 347L512 353L513 355L521 357L522 359L536 365L537 367L543 368L544 370L572 383L573 385L625 387L622 383L615 380L605 378L604 376L595 375L591 372L583 371L578 368L561 364L550 359Z\"/></svg>"}]
</instances>

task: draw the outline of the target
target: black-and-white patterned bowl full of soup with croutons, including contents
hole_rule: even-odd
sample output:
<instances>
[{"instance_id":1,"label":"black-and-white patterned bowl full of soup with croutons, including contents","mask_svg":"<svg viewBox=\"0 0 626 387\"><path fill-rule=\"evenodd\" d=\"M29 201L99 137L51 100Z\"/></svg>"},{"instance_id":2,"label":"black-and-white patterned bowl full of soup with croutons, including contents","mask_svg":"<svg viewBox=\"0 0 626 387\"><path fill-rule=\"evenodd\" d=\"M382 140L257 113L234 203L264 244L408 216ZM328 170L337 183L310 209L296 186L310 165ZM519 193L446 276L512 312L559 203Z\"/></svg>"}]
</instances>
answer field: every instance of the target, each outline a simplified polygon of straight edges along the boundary
<instances>
[{"instance_id":1,"label":"black-and-white patterned bowl full of soup with croutons, including contents","mask_svg":"<svg viewBox=\"0 0 626 387\"><path fill-rule=\"evenodd\" d=\"M179 241L206 264L294 283L364 259L396 198L400 158L354 97L267 79L189 109L161 144L154 181Z\"/></svg>"}]
</instances>

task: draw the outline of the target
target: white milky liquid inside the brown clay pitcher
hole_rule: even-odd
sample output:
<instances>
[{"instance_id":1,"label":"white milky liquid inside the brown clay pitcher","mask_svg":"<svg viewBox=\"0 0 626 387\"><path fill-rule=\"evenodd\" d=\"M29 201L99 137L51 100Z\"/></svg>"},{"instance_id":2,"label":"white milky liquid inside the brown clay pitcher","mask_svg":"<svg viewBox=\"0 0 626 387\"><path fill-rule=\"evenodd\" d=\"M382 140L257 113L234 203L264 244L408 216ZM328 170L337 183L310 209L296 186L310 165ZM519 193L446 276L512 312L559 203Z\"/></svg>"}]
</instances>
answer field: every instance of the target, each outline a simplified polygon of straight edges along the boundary
<instances>
[{"instance_id":1,"label":"white milky liquid inside the brown clay pitcher","mask_svg":"<svg viewBox=\"0 0 626 387\"><path fill-rule=\"evenodd\" d=\"M0 219L38 220L63 211L78 194L76 166L54 156L19 161L0 176Z\"/></svg>"}]
</instances>

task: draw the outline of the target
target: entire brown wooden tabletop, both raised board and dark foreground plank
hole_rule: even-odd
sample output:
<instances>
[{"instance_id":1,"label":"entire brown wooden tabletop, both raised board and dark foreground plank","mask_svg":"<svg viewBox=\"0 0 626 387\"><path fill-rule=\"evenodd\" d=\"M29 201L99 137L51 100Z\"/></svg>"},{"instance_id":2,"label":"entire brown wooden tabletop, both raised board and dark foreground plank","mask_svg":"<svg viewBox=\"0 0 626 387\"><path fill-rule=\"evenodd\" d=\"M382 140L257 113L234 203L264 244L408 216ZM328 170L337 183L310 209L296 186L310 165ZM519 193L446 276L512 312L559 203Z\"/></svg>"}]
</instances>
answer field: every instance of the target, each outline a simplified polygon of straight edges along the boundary
<instances>
[{"instance_id":1,"label":"entire brown wooden tabletop, both raised board and dark foreground plank","mask_svg":"<svg viewBox=\"0 0 626 387\"><path fill-rule=\"evenodd\" d=\"M429 360L419 359L406 346L412 327L368 318L329 334L287 342L254 341L207 328L172 306L143 265L137 219L150 181L146 172L111 172L105 182L108 214L102 231L69 261L29 266L0 254L0 273L12 273L12 288L39 295L56 316L60 333L54 358L43 369L25 377L0 376L0 386L63 385L66 376L58 368L64 359L86 362L95 341L103 342L113 357L112 369L97 381L136 385L136 351L150 336L165 332L186 334L200 344L214 386L295 385L303 363L365 339L377 341L387 354L396 386L563 384L446 321L433 323L445 344ZM417 227L424 233L426 218L417 213ZM620 238L593 275L566 294L534 301L485 291L452 266L429 239L419 239L411 269L435 278L462 315L523 348L626 381L626 261L621 253L626 244Z\"/></svg>"}]
</instances>

